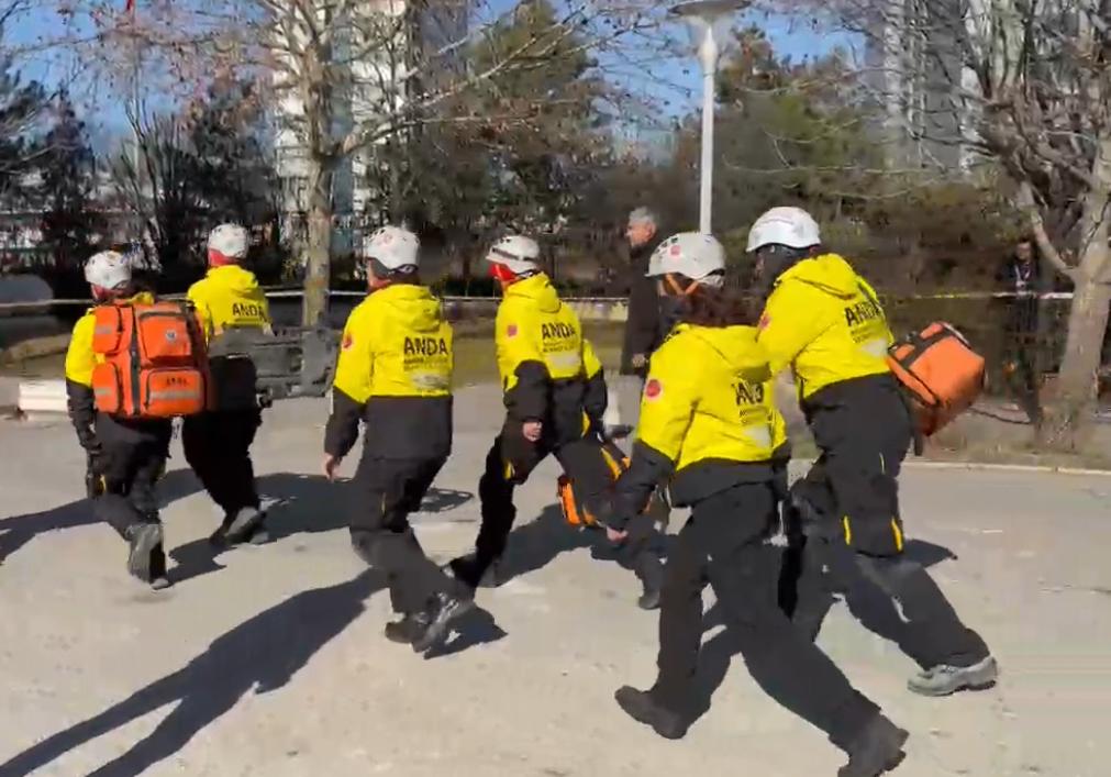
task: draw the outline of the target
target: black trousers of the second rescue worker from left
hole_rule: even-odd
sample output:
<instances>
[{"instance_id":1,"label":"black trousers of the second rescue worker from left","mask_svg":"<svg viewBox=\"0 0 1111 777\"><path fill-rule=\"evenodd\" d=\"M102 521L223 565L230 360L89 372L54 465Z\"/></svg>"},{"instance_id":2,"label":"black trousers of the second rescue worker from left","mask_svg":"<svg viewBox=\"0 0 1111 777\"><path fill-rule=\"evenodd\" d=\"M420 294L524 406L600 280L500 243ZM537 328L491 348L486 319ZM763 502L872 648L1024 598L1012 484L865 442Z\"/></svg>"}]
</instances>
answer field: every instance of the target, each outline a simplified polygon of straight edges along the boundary
<instances>
[{"instance_id":1,"label":"black trousers of the second rescue worker from left","mask_svg":"<svg viewBox=\"0 0 1111 777\"><path fill-rule=\"evenodd\" d=\"M251 444L261 424L258 409L202 412L182 422L186 461L228 518L259 507Z\"/></svg>"}]
</instances>

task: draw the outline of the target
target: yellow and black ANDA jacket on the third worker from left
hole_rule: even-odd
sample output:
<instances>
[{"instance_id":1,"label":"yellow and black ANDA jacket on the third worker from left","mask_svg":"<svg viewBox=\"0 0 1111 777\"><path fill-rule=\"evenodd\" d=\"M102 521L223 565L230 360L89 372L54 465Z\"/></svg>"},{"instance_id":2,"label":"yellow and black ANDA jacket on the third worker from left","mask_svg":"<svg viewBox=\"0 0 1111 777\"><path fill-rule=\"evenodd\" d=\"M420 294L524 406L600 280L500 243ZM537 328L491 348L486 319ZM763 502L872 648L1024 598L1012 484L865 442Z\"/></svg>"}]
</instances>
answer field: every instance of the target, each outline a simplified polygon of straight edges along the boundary
<instances>
[{"instance_id":1,"label":"yellow and black ANDA jacket on the third worker from left","mask_svg":"<svg viewBox=\"0 0 1111 777\"><path fill-rule=\"evenodd\" d=\"M327 452L342 457L367 421L364 455L429 459L451 450L452 329L423 286L371 292L343 327Z\"/></svg>"}]
</instances>

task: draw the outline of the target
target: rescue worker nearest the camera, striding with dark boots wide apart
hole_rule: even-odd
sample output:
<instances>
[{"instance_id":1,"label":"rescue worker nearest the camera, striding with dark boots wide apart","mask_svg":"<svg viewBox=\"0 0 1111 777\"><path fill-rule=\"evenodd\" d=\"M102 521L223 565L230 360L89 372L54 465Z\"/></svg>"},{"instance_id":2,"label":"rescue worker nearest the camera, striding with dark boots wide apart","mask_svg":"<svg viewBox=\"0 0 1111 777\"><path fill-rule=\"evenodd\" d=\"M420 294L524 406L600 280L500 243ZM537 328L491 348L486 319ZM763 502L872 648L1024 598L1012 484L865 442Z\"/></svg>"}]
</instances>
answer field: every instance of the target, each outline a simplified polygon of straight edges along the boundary
<instances>
[{"instance_id":1,"label":"rescue worker nearest the camera, striding with dark boots wide apart","mask_svg":"<svg viewBox=\"0 0 1111 777\"><path fill-rule=\"evenodd\" d=\"M625 686L621 708L660 736L685 735L702 644L702 589L713 586L749 671L849 753L841 775L874 777L902 758L907 733L854 690L780 611L775 450L783 424L755 341L754 306L723 291L724 251L709 235L664 240L648 273L679 323L652 355L632 465L617 485L608 531L620 536L658 485L691 507L669 550L660 607L659 674L651 689ZM672 305L674 303L674 305ZM751 310L747 309L751 308ZM642 519L641 519L642 520Z\"/></svg>"}]
</instances>

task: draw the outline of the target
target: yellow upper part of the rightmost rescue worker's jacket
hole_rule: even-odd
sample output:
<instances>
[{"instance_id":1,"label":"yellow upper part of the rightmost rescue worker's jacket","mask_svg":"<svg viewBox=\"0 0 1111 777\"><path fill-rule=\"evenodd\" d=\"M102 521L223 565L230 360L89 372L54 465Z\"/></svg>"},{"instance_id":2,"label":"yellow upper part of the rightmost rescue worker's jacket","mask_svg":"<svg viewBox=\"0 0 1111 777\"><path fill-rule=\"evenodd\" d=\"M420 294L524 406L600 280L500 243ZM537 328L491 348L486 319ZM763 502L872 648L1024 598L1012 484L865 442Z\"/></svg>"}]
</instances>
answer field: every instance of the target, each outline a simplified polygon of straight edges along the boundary
<instances>
[{"instance_id":1,"label":"yellow upper part of the rightmost rescue worker's jacket","mask_svg":"<svg viewBox=\"0 0 1111 777\"><path fill-rule=\"evenodd\" d=\"M760 346L772 375L794 371L799 396L890 372L892 342L883 308L841 257L804 259L775 282L760 319Z\"/></svg>"}]
</instances>

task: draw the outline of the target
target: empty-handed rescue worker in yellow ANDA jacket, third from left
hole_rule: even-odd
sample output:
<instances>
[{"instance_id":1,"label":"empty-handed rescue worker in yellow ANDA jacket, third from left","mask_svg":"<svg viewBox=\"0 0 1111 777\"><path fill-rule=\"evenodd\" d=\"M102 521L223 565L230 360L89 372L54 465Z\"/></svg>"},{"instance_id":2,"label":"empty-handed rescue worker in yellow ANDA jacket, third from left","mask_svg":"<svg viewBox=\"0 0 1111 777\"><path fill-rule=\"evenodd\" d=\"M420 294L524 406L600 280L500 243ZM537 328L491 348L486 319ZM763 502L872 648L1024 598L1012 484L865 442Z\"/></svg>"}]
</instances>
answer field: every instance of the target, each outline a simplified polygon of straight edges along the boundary
<instances>
[{"instance_id":1,"label":"empty-handed rescue worker in yellow ANDA jacket, third from left","mask_svg":"<svg viewBox=\"0 0 1111 777\"><path fill-rule=\"evenodd\" d=\"M417 236L399 227L367 242L370 293L343 328L323 468L333 479L363 421L362 456L346 486L351 545L386 572L401 616L387 638L424 651L472 598L424 555L409 524L451 452L454 363L451 326L420 283L419 249Z\"/></svg>"}]
</instances>

